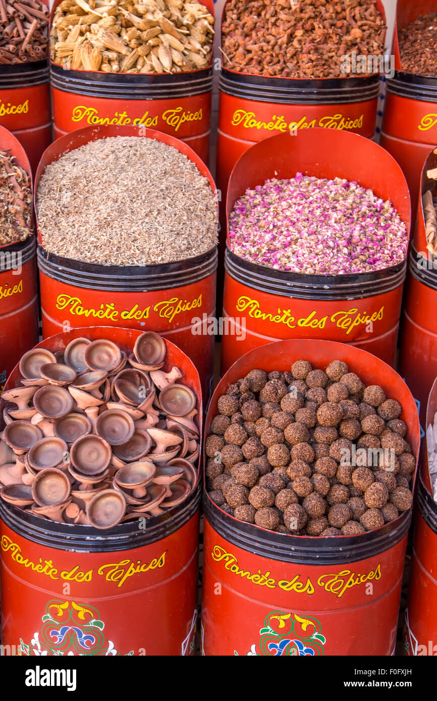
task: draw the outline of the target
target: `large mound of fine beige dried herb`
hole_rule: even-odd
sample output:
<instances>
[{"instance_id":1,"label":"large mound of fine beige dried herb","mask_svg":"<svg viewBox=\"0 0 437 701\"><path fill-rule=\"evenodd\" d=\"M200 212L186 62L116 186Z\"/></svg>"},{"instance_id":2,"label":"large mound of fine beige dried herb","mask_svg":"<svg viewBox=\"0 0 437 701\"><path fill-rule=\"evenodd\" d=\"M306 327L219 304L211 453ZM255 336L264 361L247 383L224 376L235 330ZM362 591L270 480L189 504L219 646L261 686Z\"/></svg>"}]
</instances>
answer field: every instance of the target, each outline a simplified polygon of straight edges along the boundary
<instances>
[{"instance_id":1,"label":"large mound of fine beige dried herb","mask_svg":"<svg viewBox=\"0 0 437 701\"><path fill-rule=\"evenodd\" d=\"M208 180L177 149L143 137L98 139L48 165L36 212L46 250L88 263L180 261L217 240Z\"/></svg>"}]
</instances>

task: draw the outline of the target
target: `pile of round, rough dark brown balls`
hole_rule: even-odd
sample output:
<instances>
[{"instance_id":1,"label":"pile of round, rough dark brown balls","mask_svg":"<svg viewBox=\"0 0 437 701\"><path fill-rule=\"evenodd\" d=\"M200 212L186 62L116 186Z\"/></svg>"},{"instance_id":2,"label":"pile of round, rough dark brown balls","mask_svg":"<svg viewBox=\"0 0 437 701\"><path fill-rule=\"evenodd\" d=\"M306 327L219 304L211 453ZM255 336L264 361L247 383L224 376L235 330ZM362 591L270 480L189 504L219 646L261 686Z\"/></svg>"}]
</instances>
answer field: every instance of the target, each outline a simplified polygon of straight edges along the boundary
<instances>
[{"instance_id":1,"label":"pile of round, rough dark brown balls","mask_svg":"<svg viewBox=\"0 0 437 701\"><path fill-rule=\"evenodd\" d=\"M346 363L254 369L217 407L206 486L236 519L278 533L353 536L410 508L415 457L401 404Z\"/></svg>"}]
</instances>

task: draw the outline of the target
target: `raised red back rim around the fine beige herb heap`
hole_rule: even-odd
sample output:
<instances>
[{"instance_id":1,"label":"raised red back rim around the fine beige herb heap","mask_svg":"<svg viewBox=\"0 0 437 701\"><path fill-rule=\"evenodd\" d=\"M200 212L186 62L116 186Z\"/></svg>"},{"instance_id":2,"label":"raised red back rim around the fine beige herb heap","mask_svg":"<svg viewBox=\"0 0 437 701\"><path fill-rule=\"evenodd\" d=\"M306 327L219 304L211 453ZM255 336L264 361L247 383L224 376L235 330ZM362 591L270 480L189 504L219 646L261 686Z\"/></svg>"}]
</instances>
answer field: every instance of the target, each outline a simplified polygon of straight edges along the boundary
<instances>
[{"instance_id":1,"label":"raised red back rim around the fine beige herb heap","mask_svg":"<svg viewBox=\"0 0 437 701\"><path fill-rule=\"evenodd\" d=\"M74 149L79 149L79 147L84 146L85 144L88 144L90 141L98 141L98 139L105 139L107 137L114 137L114 136L137 136L137 137L141 137L141 138L145 137L148 139L156 139L156 141L160 141L160 142L163 142L164 144L168 144L168 146L173 146L175 149L177 149L177 151L180 151L181 154L184 154L184 156L187 156L187 158L189 158L189 161L192 161L192 163L194 163L194 165L196 165L197 170L199 170L200 174L203 175L203 177L206 177L206 179L208 179L208 182L210 184L210 188L213 191L213 194L215 195L215 198L217 200L217 229L218 229L218 198L217 198L217 189L215 187L215 182L214 182L213 176L210 174L210 171L206 167L205 163L203 163L201 158L187 144L180 141L180 139L176 139L174 136L171 136L170 134L164 134L163 132L160 132L156 129L148 129L148 128L144 128L142 126L140 126L140 127L133 126L133 125L126 125L126 126L107 125L107 126L98 126L98 127L88 126L88 127L83 127L81 129L76 129L76 131L69 132L68 134L65 134L64 136L59 137L59 139L56 139L52 144L50 144L49 147L47 147L47 149L44 151L43 155L41 156L41 161L39 161L38 168L36 169L35 183L34 183L34 212L35 212L35 220L36 220L36 233L37 233L38 241L42 247L43 247L43 242L42 242L42 237L41 237L41 231L39 231L38 215L36 213L36 196L38 193L39 181L41 180L41 176L43 175L44 170L46 170L47 165L49 165L50 163L54 163L54 161L58 161L60 156L63 156L64 154L69 153L69 151L74 151ZM213 250L213 248L211 248L210 250Z\"/></svg>"}]
</instances>

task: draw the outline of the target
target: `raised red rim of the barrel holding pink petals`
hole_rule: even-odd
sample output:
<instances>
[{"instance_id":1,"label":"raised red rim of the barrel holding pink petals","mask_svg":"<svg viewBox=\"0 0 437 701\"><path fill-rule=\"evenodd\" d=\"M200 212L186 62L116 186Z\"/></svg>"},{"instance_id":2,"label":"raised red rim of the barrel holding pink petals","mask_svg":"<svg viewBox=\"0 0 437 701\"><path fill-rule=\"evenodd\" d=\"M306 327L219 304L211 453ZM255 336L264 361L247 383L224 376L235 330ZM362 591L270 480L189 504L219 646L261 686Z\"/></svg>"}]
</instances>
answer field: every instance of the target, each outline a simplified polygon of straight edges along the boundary
<instances>
[{"instance_id":1,"label":"raised red rim of the barrel holding pink petals","mask_svg":"<svg viewBox=\"0 0 437 701\"><path fill-rule=\"evenodd\" d=\"M410 236L410 191L401 166L393 156L379 144L359 134L314 127L298 130L296 135L284 132L263 139L238 158L231 170L226 197L227 249L230 252L229 216L236 200L244 195L246 189L262 185L266 179L293 178L297 172L319 178L341 177L371 189L377 197L392 203ZM243 258L235 257L244 261ZM403 263L406 258L405 254ZM257 263L251 263L251 266L255 266L260 275L265 275L265 271L271 269ZM393 271L397 267L398 264L385 268L384 272ZM308 280L321 277L307 273L299 275ZM366 275L368 273L354 273L353 276L326 275L323 278L330 282L353 277L358 282Z\"/></svg>"}]
</instances>

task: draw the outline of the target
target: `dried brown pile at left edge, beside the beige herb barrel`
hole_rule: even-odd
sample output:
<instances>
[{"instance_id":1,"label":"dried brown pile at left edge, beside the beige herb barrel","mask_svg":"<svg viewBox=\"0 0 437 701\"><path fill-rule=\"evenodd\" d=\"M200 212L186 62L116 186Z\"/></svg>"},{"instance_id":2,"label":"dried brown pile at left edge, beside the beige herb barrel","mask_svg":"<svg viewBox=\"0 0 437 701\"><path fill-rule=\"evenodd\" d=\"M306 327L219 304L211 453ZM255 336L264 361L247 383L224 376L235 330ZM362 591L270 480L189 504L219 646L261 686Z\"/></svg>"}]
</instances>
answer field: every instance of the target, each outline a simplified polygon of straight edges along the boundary
<instances>
[{"instance_id":1,"label":"dried brown pile at left edge, beside the beige herb barrel","mask_svg":"<svg viewBox=\"0 0 437 701\"><path fill-rule=\"evenodd\" d=\"M32 236L32 189L27 172L0 151L0 245Z\"/></svg>"}]
</instances>

